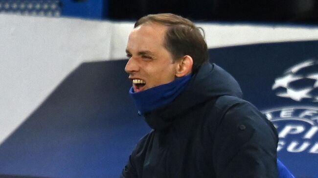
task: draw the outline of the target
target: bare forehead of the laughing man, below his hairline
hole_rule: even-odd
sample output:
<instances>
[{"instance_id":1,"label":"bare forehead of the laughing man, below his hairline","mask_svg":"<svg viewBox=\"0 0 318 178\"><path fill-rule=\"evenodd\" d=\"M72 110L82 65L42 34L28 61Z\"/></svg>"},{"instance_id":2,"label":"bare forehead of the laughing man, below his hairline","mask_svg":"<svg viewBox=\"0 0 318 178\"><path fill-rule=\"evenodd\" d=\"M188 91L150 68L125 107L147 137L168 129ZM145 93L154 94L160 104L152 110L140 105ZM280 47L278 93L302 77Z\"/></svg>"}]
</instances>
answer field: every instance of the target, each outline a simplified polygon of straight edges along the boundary
<instances>
[{"instance_id":1,"label":"bare forehead of the laughing man, below his hairline","mask_svg":"<svg viewBox=\"0 0 318 178\"><path fill-rule=\"evenodd\" d=\"M145 23L129 34L127 48L151 48L163 46L167 27L159 23Z\"/></svg>"}]
</instances>

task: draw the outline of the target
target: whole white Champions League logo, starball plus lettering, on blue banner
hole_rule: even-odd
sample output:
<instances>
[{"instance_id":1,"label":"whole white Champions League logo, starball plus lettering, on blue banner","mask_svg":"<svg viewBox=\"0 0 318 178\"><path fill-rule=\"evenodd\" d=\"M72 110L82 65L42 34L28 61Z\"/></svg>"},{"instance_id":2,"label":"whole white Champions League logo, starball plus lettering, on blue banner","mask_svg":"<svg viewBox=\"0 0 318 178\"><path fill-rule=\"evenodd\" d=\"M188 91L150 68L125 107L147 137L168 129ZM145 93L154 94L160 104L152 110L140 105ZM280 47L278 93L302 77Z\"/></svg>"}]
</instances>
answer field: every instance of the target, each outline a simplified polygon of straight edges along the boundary
<instances>
[{"instance_id":1,"label":"whole white Champions League logo, starball plus lettering, on blue banner","mask_svg":"<svg viewBox=\"0 0 318 178\"><path fill-rule=\"evenodd\" d=\"M276 96L296 101L262 111L277 128L277 151L318 154L318 60L290 67L275 79L272 89Z\"/></svg>"}]
</instances>

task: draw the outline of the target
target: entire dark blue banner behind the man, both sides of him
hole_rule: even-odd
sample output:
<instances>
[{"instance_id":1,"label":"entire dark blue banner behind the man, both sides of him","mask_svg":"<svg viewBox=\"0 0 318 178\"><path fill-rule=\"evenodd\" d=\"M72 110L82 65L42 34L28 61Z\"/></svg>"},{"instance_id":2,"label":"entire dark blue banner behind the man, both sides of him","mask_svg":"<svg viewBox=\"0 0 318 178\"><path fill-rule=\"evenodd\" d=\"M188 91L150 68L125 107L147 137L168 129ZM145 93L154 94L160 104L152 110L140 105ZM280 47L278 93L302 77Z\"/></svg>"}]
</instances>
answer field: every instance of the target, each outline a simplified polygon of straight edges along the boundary
<instances>
[{"instance_id":1,"label":"entire dark blue banner behind the man, both sides of him","mask_svg":"<svg viewBox=\"0 0 318 178\"><path fill-rule=\"evenodd\" d=\"M316 40L209 50L210 59L238 80L244 99L273 121L278 156L297 178L318 177L317 49ZM0 145L0 174L119 177L136 142L150 130L128 94L126 62L76 68Z\"/></svg>"}]
</instances>

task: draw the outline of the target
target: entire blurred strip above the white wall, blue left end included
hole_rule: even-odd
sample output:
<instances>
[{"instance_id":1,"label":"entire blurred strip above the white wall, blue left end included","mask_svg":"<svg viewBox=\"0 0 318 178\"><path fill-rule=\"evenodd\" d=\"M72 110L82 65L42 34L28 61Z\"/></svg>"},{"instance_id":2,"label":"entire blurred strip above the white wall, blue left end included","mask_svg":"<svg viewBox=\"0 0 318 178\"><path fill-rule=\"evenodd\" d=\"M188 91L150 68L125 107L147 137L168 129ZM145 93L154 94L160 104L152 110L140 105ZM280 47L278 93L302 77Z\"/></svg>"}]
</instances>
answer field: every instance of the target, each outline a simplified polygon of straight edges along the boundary
<instances>
[{"instance_id":1,"label":"entire blurred strip above the white wall, blue left end included","mask_svg":"<svg viewBox=\"0 0 318 178\"><path fill-rule=\"evenodd\" d=\"M33 16L136 20L165 12L196 21L317 24L318 0L0 0L0 13Z\"/></svg>"}]
</instances>

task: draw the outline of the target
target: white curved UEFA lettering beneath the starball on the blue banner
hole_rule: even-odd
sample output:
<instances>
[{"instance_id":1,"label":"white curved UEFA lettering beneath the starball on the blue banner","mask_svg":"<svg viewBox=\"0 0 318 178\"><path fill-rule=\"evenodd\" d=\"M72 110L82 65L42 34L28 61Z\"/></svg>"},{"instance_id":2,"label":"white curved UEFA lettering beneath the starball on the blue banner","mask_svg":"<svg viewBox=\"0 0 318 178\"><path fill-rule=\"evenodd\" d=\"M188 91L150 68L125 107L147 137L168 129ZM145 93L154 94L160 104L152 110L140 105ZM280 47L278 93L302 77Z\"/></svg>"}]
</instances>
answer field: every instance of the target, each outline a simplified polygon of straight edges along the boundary
<instances>
[{"instance_id":1,"label":"white curved UEFA lettering beneath the starball on the blue banner","mask_svg":"<svg viewBox=\"0 0 318 178\"><path fill-rule=\"evenodd\" d=\"M289 106L262 112L277 128L277 151L318 154L317 107Z\"/></svg>"}]
</instances>

